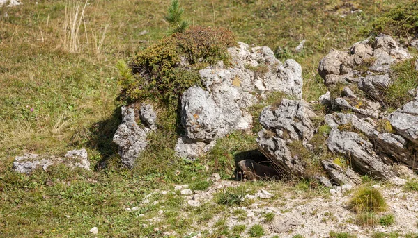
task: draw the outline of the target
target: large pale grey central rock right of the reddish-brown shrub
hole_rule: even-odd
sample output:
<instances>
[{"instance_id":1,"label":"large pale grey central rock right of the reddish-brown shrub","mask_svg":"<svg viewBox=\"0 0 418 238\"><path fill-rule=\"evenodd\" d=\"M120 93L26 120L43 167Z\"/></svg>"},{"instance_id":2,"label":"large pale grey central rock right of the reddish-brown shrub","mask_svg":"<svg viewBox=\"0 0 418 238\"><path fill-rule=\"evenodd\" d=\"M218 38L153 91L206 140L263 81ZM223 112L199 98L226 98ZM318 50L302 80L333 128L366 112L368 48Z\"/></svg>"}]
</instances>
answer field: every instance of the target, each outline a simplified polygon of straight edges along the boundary
<instances>
[{"instance_id":1,"label":"large pale grey central rock right of the reddish-brown shrub","mask_svg":"<svg viewBox=\"0 0 418 238\"><path fill-rule=\"evenodd\" d=\"M284 92L302 98L302 67L295 60L281 63L266 46L249 48L238 43L228 49L231 67L222 62L201 69L206 90L190 87L183 93L181 122L184 137L176 152L196 158L215 146L215 140L234 130L250 130L252 117L247 108L268 92Z\"/></svg>"}]
</instances>

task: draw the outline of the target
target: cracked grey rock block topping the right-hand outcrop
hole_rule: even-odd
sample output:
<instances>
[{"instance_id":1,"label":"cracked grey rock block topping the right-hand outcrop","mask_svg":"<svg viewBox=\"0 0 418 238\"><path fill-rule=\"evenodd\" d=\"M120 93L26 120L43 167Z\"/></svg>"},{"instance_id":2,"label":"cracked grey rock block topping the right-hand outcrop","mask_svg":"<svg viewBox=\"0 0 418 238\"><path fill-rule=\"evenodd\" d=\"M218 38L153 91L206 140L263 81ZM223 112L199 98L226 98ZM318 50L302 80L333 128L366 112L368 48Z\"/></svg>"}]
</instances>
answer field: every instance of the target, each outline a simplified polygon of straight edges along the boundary
<instances>
[{"instance_id":1,"label":"cracked grey rock block topping the right-hand outcrop","mask_svg":"<svg viewBox=\"0 0 418 238\"><path fill-rule=\"evenodd\" d=\"M408 50L398 46L392 37L380 34L373 43L368 39L353 44L348 53L332 49L320 60L318 72L327 86L359 83L365 92L380 94L393 83L388 74L391 65L410 58ZM366 77L355 70L362 65L369 69Z\"/></svg>"}]
</instances>

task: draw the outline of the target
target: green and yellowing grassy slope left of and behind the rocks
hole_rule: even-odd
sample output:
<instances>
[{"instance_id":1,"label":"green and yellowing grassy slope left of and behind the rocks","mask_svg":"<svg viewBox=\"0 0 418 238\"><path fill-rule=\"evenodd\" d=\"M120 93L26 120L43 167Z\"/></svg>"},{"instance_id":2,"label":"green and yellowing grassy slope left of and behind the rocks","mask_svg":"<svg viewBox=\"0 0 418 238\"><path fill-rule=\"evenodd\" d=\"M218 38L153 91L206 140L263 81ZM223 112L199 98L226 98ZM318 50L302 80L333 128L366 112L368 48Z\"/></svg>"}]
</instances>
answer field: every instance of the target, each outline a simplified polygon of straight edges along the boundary
<instances>
[{"instance_id":1,"label":"green and yellowing grassy slope left of and behind the rocks","mask_svg":"<svg viewBox=\"0 0 418 238\"><path fill-rule=\"evenodd\" d=\"M24 1L22 6L0 8L1 236L78 237L99 224L109 234L123 237L123 232L138 229L139 221L120 214L122 207L140 201L153 183L168 186L206 176L199 163L176 162L184 168L178 177L151 173L145 178L115 165L111 137L119 116L114 65L166 35L168 25L162 18L168 1L91 1L78 53L69 53L63 44L66 2ZM302 65L304 98L310 101L325 91L316 73L320 58L332 47L344 49L361 39L359 30L380 9L398 1L353 1L362 12L346 17L341 17L344 9L335 10L341 1L212 2L181 1L185 17L196 25L213 26L215 10L216 26L230 28L240 41L273 50L280 46L281 59L295 58ZM102 50L97 52L95 42L107 25ZM141 35L143 30L148 33ZM292 49L303 39L304 51L295 53ZM240 150L254 148L239 133L224 144L216 167L230 163ZM111 166L88 173L56 168L31 177L10 172L15 155L60 154L77 147L88 149L93 165L111 158ZM56 178L71 183L45 185Z\"/></svg>"}]
</instances>

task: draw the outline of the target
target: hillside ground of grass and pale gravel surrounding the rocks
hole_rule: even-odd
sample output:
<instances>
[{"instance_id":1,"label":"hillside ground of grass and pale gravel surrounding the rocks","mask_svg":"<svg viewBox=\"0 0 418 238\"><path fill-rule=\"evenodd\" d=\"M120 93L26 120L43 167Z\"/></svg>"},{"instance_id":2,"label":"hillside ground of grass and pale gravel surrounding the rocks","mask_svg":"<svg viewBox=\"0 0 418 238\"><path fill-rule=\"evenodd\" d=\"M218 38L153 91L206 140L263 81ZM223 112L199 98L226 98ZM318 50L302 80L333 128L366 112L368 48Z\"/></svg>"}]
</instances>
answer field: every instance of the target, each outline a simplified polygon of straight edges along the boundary
<instances>
[{"instance_id":1,"label":"hillside ground of grass and pale gravel surrounding the rocks","mask_svg":"<svg viewBox=\"0 0 418 238\"><path fill-rule=\"evenodd\" d=\"M412 170L400 176L405 178L402 185L394 185L389 178L376 179L368 176L369 173L359 177L360 188L380 189L387 203L385 211L366 213L365 219L359 217L364 213L357 215L348 208L357 187L330 189L310 177L256 182L234 180L239 160L260 156L257 134L264 125L258 120L266 106L272 105L274 111L283 107L286 100L300 95L304 101L312 102L319 118L312 119L315 133L330 135L331 127L325 126L324 121L331 109L320 105L318 99L329 90L327 86L331 83L323 79L329 72L321 76L318 66L332 49L347 52L355 42L368 37L372 41L380 33L392 35L410 58L402 61L400 56L401 60L391 70L394 77L407 80L395 83L382 98L375 99L388 114L412 101L414 97L407 92L418 85L414 65L418 45L411 44L418 33L418 19L414 18L418 12L417 1L183 0L180 6L192 33L186 31L174 38L170 38L171 26L164 19L169 1L21 3L0 6L1 237L418 236L415 204L418 180ZM287 98L282 93L245 92L257 99L267 95L265 100L248 107L253 120L251 128L246 133L228 130L214 140L208 153L187 160L178 158L174 150L180 134L184 133L179 132L183 122L178 117L178 108L183 87L186 85L187 89L190 82L200 84L200 80L194 81L199 75L183 74L184 71L173 74L173 78L180 75L192 79L186 78L180 86L171 85L172 81L158 85L157 94L162 95L159 98L153 87L144 90L141 85L129 84L131 68L128 67L137 69L137 75L144 74L141 60L152 61L152 53L159 46L172 53L169 47L173 42L187 42L187 37L195 36L193 31L201 32L199 27L228 40L227 43L222 41L224 38L219 40L221 46L215 55L208 53L212 61L205 61L207 55L191 57L186 64L190 69L212 67L217 60L224 60L226 68L236 59L223 55L226 51L222 50L226 46L242 46L235 42L244 42L249 47L268 46L263 52L271 49L272 57L280 64L285 63L284 72L295 68L291 65L293 61L286 60L295 60L302 67L303 87L300 94ZM350 70L368 71L373 60ZM248 63L241 66L254 74L271 71ZM153 72L151 68L146 70ZM207 74L209 79L213 71L220 70L218 66L211 69ZM178 73L176 69L173 71ZM155 76L158 77L160 74ZM135 91L137 88L142 91ZM332 99L343 90L341 85L334 88L338 92L330 90ZM129 90L140 93L127 94ZM176 92L173 98L167 99L171 104L158 103L166 99L164 90ZM141 97L146 93L150 96ZM118 126L125 120L121 106L134 99L155 106L157 129L149 130L145 152L127 169L113 140ZM357 105L357 109L362 109ZM341 123L335 127L341 131L344 126L346 130L354 130L353 125L347 125ZM144 129L144 125L140 128ZM392 126L390 130L392 133ZM303 139L309 141L311 137ZM293 146L303 157L306 148L297 143ZM405 147L416 151L410 148L411 144L408 146ZM12 169L15 157L24 153L59 157L80 148L88 153L89 170L68 169L65 164L58 164L26 175ZM322 147L320 152L316 148L311 151L314 152L305 155L314 168L318 161L311 155L323 156L321 160L330 156ZM343 152L339 153L343 157ZM415 162L415 157L411 160ZM408 166L415 169L414 165ZM313 170L321 175L325 173ZM90 232L93 227L98 228L97 235Z\"/></svg>"}]
</instances>

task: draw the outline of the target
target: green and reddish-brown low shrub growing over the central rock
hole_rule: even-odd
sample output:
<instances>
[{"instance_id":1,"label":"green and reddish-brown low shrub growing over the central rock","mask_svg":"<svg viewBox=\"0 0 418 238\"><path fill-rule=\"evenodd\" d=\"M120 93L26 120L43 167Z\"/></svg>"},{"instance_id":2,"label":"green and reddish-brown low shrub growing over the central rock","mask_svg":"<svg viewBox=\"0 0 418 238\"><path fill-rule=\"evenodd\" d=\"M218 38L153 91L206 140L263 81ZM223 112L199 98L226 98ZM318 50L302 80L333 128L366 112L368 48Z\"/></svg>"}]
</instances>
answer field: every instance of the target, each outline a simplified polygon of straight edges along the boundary
<instances>
[{"instance_id":1,"label":"green and reddish-brown low shrub growing over the central rock","mask_svg":"<svg viewBox=\"0 0 418 238\"><path fill-rule=\"evenodd\" d=\"M175 33L140 51L131 62L132 76L124 67L119 80L121 101L150 99L177 106L187 88L201 85L199 69L219 60L228 62L227 48L235 36L225 28L195 26Z\"/></svg>"}]
</instances>

